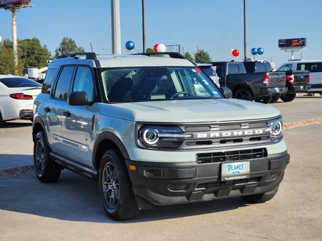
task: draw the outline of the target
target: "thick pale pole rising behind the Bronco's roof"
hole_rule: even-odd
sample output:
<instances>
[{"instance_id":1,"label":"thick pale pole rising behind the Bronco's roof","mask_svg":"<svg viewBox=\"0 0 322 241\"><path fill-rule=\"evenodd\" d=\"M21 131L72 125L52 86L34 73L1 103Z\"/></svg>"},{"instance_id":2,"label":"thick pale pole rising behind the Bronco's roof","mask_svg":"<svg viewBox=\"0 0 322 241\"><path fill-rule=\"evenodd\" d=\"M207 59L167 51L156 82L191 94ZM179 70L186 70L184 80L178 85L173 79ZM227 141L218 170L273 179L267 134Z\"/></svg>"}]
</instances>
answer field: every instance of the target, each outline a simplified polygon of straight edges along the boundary
<instances>
[{"instance_id":1,"label":"thick pale pole rising behind the Bronco's roof","mask_svg":"<svg viewBox=\"0 0 322 241\"><path fill-rule=\"evenodd\" d=\"M120 0L111 0L112 54L121 54Z\"/></svg>"}]
</instances>

